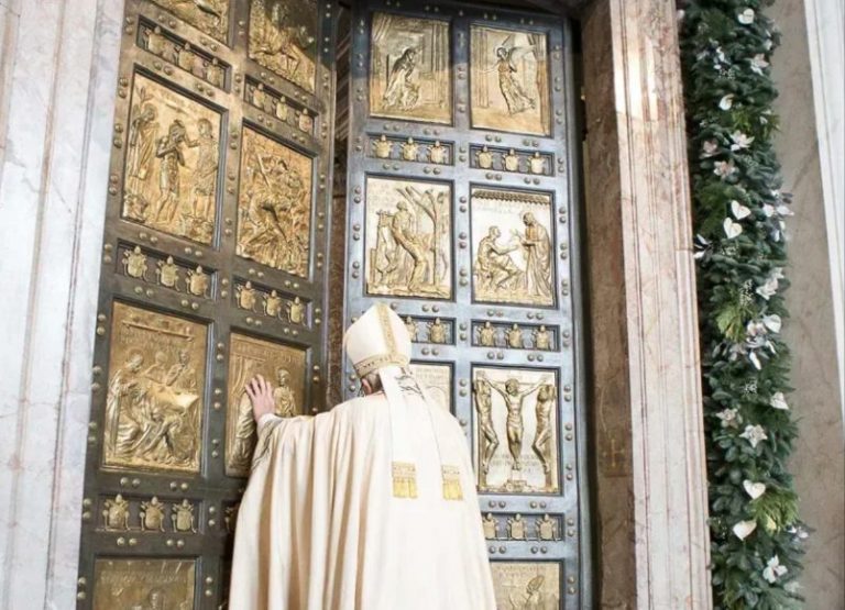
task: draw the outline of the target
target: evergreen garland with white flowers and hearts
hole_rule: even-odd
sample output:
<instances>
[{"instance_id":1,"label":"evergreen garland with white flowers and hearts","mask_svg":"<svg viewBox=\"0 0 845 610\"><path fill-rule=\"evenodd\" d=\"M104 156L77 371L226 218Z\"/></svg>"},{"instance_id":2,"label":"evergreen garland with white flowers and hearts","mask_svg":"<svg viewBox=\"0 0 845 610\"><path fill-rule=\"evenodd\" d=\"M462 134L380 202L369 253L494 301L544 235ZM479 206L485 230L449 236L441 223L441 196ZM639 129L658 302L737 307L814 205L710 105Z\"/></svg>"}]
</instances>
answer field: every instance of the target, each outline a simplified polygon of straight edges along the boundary
<instances>
[{"instance_id":1,"label":"evergreen garland with white flowers and hearts","mask_svg":"<svg viewBox=\"0 0 845 610\"><path fill-rule=\"evenodd\" d=\"M801 606L806 531L787 468L797 428L780 335L791 211L772 147L769 3L691 0L680 14L720 609Z\"/></svg>"}]
</instances>

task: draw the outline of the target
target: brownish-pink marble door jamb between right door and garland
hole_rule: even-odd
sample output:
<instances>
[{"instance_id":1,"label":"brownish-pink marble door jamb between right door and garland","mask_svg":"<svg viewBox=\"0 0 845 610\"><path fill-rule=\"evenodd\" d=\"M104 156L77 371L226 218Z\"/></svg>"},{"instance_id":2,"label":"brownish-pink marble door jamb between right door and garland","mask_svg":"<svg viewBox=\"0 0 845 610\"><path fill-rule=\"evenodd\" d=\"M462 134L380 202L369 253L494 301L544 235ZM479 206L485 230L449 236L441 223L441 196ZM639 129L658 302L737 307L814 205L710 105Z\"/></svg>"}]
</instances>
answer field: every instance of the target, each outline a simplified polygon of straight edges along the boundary
<instances>
[{"instance_id":1,"label":"brownish-pink marble door jamb between right door and garland","mask_svg":"<svg viewBox=\"0 0 845 610\"><path fill-rule=\"evenodd\" d=\"M583 15L601 608L709 608L699 345L676 7Z\"/></svg>"}]
</instances>

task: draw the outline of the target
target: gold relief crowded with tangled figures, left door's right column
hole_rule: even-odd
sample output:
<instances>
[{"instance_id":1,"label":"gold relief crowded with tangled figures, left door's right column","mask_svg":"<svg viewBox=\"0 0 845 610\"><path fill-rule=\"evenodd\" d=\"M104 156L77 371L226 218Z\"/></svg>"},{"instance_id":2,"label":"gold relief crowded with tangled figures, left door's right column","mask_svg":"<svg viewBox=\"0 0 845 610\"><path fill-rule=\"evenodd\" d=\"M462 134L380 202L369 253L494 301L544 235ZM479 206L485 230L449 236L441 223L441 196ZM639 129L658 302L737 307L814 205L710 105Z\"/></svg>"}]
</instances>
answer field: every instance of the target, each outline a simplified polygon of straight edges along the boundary
<instances>
[{"instance_id":1,"label":"gold relief crowded with tangled figures, left door's right column","mask_svg":"<svg viewBox=\"0 0 845 610\"><path fill-rule=\"evenodd\" d=\"M238 255L307 277L311 159L249 127L241 148Z\"/></svg>"}]
</instances>

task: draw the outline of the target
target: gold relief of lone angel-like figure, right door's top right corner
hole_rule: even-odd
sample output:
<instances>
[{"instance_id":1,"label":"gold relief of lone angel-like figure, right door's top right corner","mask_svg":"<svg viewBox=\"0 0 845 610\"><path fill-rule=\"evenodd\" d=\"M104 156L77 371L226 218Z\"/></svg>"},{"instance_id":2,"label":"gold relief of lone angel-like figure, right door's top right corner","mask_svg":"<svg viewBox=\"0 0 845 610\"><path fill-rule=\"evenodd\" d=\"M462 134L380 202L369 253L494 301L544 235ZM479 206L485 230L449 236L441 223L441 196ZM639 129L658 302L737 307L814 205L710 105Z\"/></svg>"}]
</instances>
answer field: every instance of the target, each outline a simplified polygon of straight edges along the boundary
<instances>
[{"instance_id":1,"label":"gold relief of lone angel-like figure, right door's top right corner","mask_svg":"<svg viewBox=\"0 0 845 610\"><path fill-rule=\"evenodd\" d=\"M473 25L472 126L549 134L546 34Z\"/></svg>"}]
</instances>

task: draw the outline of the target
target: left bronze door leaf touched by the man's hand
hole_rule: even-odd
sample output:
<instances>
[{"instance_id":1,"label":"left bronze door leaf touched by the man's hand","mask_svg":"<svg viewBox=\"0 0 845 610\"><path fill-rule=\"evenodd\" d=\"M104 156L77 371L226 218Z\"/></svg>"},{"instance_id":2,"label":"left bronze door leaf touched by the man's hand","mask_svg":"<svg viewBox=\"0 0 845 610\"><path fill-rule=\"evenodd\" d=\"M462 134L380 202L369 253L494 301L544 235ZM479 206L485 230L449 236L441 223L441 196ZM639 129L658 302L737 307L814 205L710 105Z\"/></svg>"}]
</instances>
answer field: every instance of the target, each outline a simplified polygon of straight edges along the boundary
<instances>
[{"instance_id":1,"label":"left bronze door leaf touched by the man's hand","mask_svg":"<svg viewBox=\"0 0 845 610\"><path fill-rule=\"evenodd\" d=\"M254 425L325 396L332 0L128 0L78 607L218 608Z\"/></svg>"}]
</instances>

